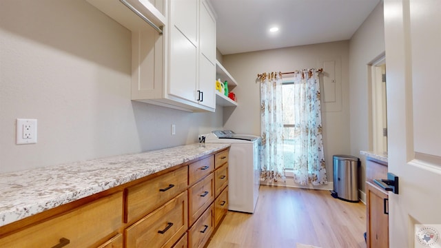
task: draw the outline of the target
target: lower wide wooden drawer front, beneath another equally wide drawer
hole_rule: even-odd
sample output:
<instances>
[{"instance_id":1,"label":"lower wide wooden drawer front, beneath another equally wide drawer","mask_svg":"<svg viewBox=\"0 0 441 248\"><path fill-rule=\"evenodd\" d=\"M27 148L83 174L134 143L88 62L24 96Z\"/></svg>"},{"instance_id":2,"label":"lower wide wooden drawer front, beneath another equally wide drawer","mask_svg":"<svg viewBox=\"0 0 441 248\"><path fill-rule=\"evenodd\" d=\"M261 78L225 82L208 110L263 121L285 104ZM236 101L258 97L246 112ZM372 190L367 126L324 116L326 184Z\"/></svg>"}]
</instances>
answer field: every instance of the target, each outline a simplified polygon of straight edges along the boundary
<instances>
[{"instance_id":1,"label":"lower wide wooden drawer front, beneath another equally wide drawer","mask_svg":"<svg viewBox=\"0 0 441 248\"><path fill-rule=\"evenodd\" d=\"M172 247L187 231L187 192L125 229L125 247Z\"/></svg>"}]
</instances>

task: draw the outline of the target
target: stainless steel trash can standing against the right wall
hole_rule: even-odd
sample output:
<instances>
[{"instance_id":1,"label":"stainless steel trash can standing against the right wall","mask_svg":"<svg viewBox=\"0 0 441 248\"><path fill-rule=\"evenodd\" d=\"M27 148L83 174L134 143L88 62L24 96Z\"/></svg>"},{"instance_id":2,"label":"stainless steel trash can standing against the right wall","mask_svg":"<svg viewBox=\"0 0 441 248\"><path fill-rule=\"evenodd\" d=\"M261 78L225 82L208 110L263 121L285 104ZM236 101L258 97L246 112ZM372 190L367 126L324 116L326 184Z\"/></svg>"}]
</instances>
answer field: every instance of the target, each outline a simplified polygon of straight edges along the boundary
<instances>
[{"instance_id":1,"label":"stainless steel trash can standing against the right wall","mask_svg":"<svg viewBox=\"0 0 441 248\"><path fill-rule=\"evenodd\" d=\"M349 155L334 155L334 191L332 196L358 203L358 166L360 159Z\"/></svg>"}]
</instances>

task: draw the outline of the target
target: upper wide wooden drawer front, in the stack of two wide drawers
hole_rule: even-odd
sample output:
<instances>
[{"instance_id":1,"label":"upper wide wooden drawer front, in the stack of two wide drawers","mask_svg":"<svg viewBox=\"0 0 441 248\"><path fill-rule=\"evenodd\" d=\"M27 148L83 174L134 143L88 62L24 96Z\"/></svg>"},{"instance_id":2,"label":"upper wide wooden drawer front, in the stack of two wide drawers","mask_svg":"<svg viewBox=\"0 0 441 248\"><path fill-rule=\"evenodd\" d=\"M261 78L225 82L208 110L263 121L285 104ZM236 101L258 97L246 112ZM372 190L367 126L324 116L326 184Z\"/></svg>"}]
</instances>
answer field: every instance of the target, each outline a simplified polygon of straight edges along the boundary
<instances>
[{"instance_id":1,"label":"upper wide wooden drawer front, in the stack of two wide drawers","mask_svg":"<svg viewBox=\"0 0 441 248\"><path fill-rule=\"evenodd\" d=\"M187 166L125 189L124 223L149 214L187 189Z\"/></svg>"}]
</instances>

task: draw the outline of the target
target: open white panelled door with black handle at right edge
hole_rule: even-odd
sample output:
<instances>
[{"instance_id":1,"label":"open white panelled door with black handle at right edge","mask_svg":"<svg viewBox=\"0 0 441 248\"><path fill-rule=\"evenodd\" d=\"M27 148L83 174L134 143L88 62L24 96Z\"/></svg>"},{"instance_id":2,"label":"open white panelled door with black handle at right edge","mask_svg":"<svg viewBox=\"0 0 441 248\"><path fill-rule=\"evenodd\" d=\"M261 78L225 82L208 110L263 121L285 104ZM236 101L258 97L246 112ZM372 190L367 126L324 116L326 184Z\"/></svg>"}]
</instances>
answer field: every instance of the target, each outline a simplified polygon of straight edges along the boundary
<instances>
[{"instance_id":1,"label":"open white panelled door with black handle at right edge","mask_svg":"<svg viewBox=\"0 0 441 248\"><path fill-rule=\"evenodd\" d=\"M441 247L440 12L440 0L384 0L392 248Z\"/></svg>"}]
</instances>

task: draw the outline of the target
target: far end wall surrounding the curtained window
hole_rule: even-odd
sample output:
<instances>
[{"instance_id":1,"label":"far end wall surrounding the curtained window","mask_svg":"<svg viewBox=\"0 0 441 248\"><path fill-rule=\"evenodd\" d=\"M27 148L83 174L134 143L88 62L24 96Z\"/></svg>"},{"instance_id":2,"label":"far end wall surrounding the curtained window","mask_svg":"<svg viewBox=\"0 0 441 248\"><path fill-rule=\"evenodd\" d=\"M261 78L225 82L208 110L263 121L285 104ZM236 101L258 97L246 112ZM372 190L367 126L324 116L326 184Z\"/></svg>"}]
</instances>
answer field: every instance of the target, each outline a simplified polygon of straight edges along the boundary
<instances>
[{"instance_id":1,"label":"far end wall surrounding the curtained window","mask_svg":"<svg viewBox=\"0 0 441 248\"><path fill-rule=\"evenodd\" d=\"M225 108L225 129L240 134L260 134L260 88L258 73L292 72L318 68L320 61L341 61L341 94L338 107L325 110L322 104L323 141L328 180L332 178L332 155L349 154L349 41L338 41L291 48L229 54L223 56L223 65L238 82L233 90L238 107ZM322 82L321 82L322 83ZM322 94L327 94L322 92Z\"/></svg>"}]
</instances>

